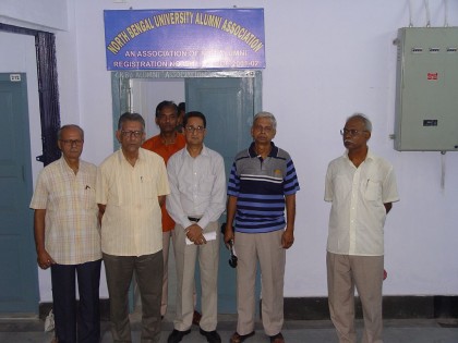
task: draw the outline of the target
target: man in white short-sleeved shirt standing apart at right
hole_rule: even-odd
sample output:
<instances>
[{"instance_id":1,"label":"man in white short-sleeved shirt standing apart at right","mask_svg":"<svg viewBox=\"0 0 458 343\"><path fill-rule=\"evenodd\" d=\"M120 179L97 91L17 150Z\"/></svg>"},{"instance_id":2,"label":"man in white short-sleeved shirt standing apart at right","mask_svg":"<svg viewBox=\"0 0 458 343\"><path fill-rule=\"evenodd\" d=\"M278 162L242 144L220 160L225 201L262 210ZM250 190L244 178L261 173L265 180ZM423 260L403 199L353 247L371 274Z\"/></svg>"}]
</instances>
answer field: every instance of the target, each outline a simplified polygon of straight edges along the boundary
<instances>
[{"instance_id":1,"label":"man in white short-sleeved shirt standing apart at right","mask_svg":"<svg viewBox=\"0 0 458 343\"><path fill-rule=\"evenodd\" d=\"M325 182L332 203L327 240L327 286L330 319L340 343L355 343L354 286L364 318L364 343L382 340L384 233L391 203L399 200L393 166L367 147L371 121L350 117L340 131L346 152L333 160Z\"/></svg>"}]
</instances>

